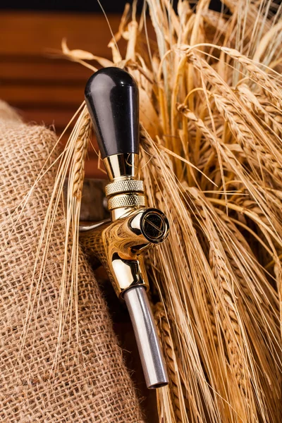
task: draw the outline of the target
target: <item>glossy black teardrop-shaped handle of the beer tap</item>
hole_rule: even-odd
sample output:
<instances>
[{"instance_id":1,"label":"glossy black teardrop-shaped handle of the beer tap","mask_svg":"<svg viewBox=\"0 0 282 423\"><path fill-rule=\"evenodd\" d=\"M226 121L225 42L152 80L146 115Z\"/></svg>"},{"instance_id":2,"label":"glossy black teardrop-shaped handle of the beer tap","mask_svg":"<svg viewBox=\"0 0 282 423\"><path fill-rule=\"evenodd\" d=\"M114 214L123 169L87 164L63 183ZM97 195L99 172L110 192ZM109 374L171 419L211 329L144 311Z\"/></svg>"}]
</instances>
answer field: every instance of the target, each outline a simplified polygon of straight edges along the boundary
<instances>
[{"instance_id":1,"label":"glossy black teardrop-shaped handle of the beer tap","mask_svg":"<svg viewBox=\"0 0 282 423\"><path fill-rule=\"evenodd\" d=\"M133 77L120 68L103 68L85 87L102 159L118 153L139 153L139 96Z\"/></svg>"}]
</instances>

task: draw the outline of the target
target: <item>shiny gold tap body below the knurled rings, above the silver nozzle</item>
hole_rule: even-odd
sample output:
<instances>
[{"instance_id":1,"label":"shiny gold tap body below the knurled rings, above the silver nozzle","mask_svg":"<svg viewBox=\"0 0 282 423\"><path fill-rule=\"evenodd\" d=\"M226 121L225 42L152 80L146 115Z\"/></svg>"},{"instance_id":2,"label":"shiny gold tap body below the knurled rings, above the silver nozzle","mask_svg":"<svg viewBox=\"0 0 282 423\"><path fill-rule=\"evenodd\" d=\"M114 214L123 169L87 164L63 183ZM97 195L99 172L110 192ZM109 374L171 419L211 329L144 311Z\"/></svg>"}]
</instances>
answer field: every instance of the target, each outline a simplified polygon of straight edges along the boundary
<instances>
[{"instance_id":1,"label":"shiny gold tap body below the knurled rings, above the silver nozzle","mask_svg":"<svg viewBox=\"0 0 282 423\"><path fill-rule=\"evenodd\" d=\"M139 209L116 221L80 231L87 255L99 258L117 295L135 285L148 287L142 252L168 235L166 216L157 209Z\"/></svg>"}]
</instances>

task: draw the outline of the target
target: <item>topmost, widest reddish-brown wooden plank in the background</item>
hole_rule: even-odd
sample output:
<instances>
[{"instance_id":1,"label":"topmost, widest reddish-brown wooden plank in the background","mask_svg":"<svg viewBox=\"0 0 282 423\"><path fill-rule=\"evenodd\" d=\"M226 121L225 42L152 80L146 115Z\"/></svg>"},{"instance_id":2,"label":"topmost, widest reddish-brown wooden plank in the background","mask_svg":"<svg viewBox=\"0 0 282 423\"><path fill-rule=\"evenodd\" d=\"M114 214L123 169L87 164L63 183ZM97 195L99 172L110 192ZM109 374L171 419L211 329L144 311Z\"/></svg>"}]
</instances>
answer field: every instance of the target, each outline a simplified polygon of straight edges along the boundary
<instances>
[{"instance_id":1,"label":"topmost, widest reddish-brown wooden plank in the background","mask_svg":"<svg viewBox=\"0 0 282 423\"><path fill-rule=\"evenodd\" d=\"M116 32L121 16L109 14L108 19ZM0 55L44 56L60 50L64 37L70 49L111 58L111 32L101 14L1 11Z\"/></svg>"}]
</instances>

